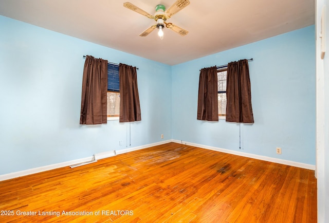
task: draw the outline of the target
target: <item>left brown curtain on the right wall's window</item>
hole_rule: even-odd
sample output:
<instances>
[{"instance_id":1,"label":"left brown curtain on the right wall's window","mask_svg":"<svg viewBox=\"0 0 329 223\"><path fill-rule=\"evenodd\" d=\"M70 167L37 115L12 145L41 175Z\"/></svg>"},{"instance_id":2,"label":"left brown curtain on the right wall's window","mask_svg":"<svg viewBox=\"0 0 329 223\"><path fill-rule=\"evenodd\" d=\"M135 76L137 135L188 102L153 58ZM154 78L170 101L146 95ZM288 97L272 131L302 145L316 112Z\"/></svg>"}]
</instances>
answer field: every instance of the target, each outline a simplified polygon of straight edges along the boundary
<instances>
[{"instance_id":1,"label":"left brown curtain on the right wall's window","mask_svg":"<svg viewBox=\"0 0 329 223\"><path fill-rule=\"evenodd\" d=\"M197 119L218 121L217 68L200 70Z\"/></svg>"}]
</instances>

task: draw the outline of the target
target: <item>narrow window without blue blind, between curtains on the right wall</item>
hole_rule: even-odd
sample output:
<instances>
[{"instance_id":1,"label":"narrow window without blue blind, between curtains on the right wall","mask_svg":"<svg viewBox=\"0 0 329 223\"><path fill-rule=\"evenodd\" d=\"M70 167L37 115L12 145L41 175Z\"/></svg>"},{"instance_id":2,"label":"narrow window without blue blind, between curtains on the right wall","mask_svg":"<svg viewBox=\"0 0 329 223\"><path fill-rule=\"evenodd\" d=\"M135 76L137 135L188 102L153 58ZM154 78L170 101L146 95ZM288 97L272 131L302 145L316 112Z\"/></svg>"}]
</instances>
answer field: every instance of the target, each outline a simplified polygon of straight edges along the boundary
<instances>
[{"instance_id":1,"label":"narrow window without blue blind, between curtains on the right wall","mask_svg":"<svg viewBox=\"0 0 329 223\"><path fill-rule=\"evenodd\" d=\"M225 119L226 116L226 73L227 67L217 70L218 116L220 119Z\"/></svg>"}]
</instances>

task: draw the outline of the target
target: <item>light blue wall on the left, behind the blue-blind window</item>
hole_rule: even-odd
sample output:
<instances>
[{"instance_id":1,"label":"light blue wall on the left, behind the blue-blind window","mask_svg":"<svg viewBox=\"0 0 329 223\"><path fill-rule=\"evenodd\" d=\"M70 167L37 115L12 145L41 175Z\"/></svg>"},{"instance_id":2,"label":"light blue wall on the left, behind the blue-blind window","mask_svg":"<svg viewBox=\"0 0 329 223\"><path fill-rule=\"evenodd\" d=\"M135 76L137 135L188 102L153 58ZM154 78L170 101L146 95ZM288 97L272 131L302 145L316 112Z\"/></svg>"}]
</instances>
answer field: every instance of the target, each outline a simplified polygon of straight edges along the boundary
<instances>
[{"instance_id":1,"label":"light blue wall on the left, behind the blue-blind window","mask_svg":"<svg viewBox=\"0 0 329 223\"><path fill-rule=\"evenodd\" d=\"M0 27L0 175L171 139L171 66L4 16ZM79 124L86 54L139 68L131 139L129 123Z\"/></svg>"}]
</instances>

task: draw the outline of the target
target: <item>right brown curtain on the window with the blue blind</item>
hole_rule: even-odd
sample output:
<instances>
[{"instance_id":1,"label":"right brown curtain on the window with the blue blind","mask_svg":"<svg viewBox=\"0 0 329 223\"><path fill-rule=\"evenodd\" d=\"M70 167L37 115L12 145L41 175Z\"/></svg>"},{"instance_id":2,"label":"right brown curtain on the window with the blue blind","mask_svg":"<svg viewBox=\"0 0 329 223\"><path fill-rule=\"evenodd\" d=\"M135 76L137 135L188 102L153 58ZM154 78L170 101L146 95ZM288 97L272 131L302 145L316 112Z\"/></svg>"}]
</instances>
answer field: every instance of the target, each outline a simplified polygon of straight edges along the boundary
<instances>
[{"instance_id":1,"label":"right brown curtain on the window with the blue blind","mask_svg":"<svg viewBox=\"0 0 329 223\"><path fill-rule=\"evenodd\" d=\"M119 64L120 117L119 122L140 121L140 106L136 67Z\"/></svg>"}]
</instances>

